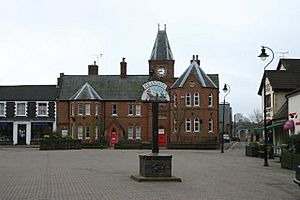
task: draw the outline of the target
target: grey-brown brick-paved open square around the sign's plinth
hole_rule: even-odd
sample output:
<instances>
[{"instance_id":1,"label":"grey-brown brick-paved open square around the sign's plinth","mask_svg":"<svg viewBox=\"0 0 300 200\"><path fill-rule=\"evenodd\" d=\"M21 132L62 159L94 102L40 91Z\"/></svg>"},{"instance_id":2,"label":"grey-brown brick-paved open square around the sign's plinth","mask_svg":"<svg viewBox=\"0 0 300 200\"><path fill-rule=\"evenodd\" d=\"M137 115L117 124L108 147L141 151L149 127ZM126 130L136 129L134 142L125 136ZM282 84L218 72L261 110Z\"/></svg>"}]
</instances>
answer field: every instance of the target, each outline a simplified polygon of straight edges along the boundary
<instances>
[{"instance_id":1,"label":"grey-brown brick-paved open square around the sign's plinth","mask_svg":"<svg viewBox=\"0 0 300 200\"><path fill-rule=\"evenodd\" d=\"M173 155L181 183L138 183L138 155L150 150L39 151L0 148L0 199L285 199L300 200L295 172L244 149L161 150Z\"/></svg>"}]
</instances>

